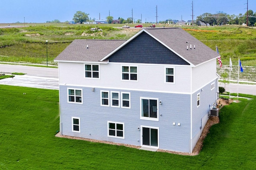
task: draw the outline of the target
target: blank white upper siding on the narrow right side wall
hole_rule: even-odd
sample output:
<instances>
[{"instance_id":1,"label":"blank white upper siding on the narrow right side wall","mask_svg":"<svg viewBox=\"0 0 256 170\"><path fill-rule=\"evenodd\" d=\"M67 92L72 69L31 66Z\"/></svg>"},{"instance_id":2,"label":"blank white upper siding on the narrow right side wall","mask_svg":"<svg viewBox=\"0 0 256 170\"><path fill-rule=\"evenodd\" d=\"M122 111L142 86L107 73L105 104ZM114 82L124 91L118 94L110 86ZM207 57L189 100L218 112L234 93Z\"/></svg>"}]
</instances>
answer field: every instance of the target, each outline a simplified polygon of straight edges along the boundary
<instances>
[{"instance_id":1,"label":"blank white upper siding on the narrow right side wall","mask_svg":"<svg viewBox=\"0 0 256 170\"><path fill-rule=\"evenodd\" d=\"M192 93L216 78L216 59L192 67Z\"/></svg>"}]
</instances>

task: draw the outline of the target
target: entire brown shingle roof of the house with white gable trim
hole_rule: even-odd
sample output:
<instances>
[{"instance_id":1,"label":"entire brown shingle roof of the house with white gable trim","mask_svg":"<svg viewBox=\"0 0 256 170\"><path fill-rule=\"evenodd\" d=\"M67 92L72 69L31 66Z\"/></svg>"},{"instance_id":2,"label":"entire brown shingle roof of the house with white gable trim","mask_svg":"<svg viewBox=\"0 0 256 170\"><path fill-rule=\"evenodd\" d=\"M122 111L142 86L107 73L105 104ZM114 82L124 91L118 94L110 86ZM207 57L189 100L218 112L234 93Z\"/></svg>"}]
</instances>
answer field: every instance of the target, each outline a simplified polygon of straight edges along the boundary
<instances>
[{"instance_id":1,"label":"entire brown shingle roof of the house with white gable trim","mask_svg":"<svg viewBox=\"0 0 256 170\"><path fill-rule=\"evenodd\" d=\"M104 61L142 32L152 36L192 67L220 56L181 28L144 28L129 40L74 40L55 61Z\"/></svg>"}]
</instances>

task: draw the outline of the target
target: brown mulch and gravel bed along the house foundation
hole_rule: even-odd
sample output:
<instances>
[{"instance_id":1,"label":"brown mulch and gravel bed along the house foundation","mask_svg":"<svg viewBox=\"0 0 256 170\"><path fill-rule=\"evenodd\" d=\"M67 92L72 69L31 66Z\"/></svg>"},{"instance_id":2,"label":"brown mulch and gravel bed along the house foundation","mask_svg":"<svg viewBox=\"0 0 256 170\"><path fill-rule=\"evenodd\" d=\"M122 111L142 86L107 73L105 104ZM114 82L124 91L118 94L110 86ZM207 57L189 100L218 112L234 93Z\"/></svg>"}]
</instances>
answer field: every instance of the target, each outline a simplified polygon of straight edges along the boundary
<instances>
[{"instance_id":1,"label":"brown mulch and gravel bed along the house foundation","mask_svg":"<svg viewBox=\"0 0 256 170\"><path fill-rule=\"evenodd\" d=\"M223 106L229 105L232 102L234 102L234 101L233 100L219 99L217 107L219 109L221 109ZM200 138L198 139L198 142L196 143L196 146L195 146L194 150L192 151L192 153L175 152L175 151L162 150L162 149L158 149L156 152L167 152L167 153L172 153L172 154L196 156L202 150L204 139L206 138L206 136L207 136L207 134L209 132L210 127L212 127L212 125L215 125L215 124L218 124L218 123L220 123L220 119L219 119L218 116L217 117L210 117L208 119L208 121L207 121L207 123L204 126L204 129L202 131L202 134L201 134ZM105 143L105 144L115 144L115 145L118 145L118 146L126 146L126 147L136 148L136 149L139 149L141 147L141 146L135 146L135 145L131 145L131 144L120 144L120 143L114 143L114 142L107 142L107 141L103 141L103 140L94 140L94 139L88 139L88 138L79 138L79 137L74 137L74 136L60 135L60 132L58 132L55 136L56 137L61 137L61 138L86 140L86 141L89 141L89 142L100 142L100 143Z\"/></svg>"}]
</instances>

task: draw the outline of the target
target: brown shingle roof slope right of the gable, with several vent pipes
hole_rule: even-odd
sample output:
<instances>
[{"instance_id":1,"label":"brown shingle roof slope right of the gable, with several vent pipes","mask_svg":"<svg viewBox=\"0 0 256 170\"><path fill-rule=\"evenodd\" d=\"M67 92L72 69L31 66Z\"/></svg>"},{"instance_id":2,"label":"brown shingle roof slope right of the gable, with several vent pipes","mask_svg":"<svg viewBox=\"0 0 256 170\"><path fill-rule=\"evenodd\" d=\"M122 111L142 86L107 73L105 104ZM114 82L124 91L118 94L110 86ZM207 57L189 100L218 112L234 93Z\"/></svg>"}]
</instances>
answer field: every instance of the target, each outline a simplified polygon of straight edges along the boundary
<instances>
[{"instance_id":1,"label":"brown shingle roof slope right of the gable, with several vent pipes","mask_svg":"<svg viewBox=\"0 0 256 170\"><path fill-rule=\"evenodd\" d=\"M170 47L193 65L204 63L219 56L219 54L210 47L181 28L147 28L145 31ZM190 44L192 49L190 49Z\"/></svg>"}]
</instances>

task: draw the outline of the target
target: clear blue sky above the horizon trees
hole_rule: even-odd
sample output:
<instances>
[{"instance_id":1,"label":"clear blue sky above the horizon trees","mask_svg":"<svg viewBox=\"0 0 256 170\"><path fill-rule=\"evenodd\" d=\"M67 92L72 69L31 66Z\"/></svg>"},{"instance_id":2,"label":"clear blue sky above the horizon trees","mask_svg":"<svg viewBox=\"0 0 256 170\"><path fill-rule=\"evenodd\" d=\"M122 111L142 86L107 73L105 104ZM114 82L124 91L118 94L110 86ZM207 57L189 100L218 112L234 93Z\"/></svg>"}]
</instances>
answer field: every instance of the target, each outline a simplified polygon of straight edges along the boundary
<instances>
[{"instance_id":1,"label":"clear blue sky above the horizon trees","mask_svg":"<svg viewBox=\"0 0 256 170\"><path fill-rule=\"evenodd\" d=\"M193 0L194 19L203 13L244 14L247 0ZM103 19L109 15L127 19L132 17L142 22L192 20L192 0L2 0L0 23L72 20L76 11L89 14L89 18ZM256 12L256 0L248 0L249 10Z\"/></svg>"}]
</instances>

